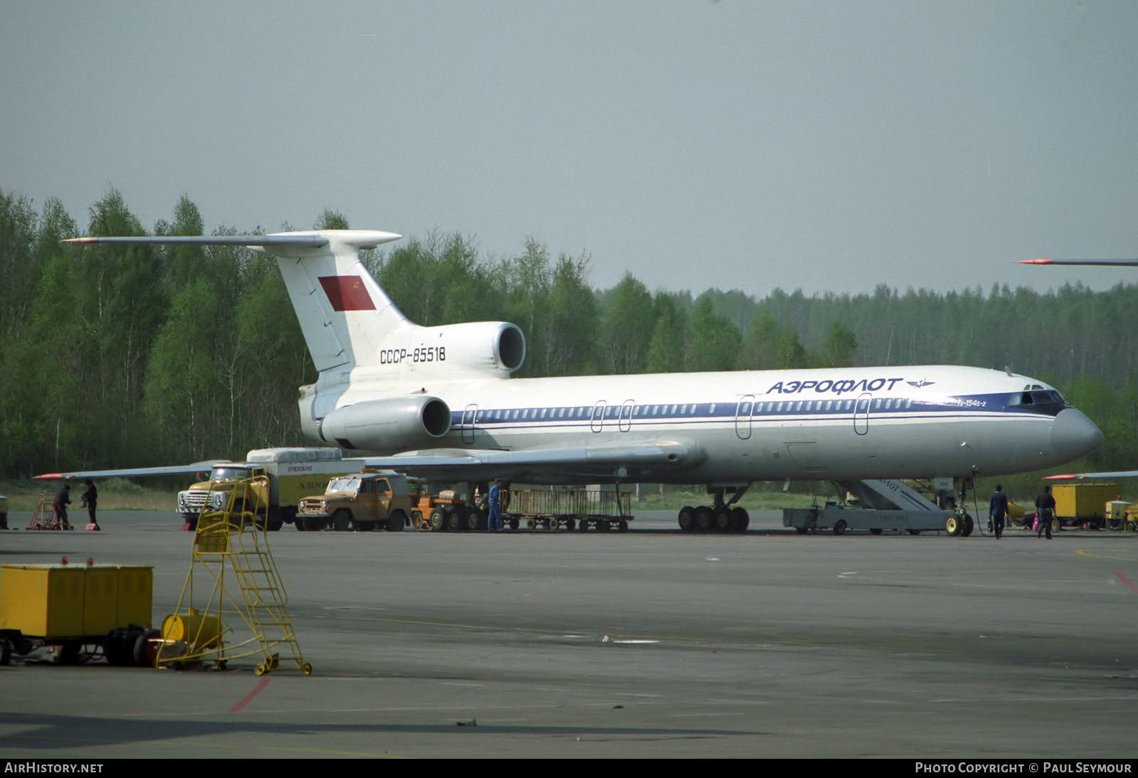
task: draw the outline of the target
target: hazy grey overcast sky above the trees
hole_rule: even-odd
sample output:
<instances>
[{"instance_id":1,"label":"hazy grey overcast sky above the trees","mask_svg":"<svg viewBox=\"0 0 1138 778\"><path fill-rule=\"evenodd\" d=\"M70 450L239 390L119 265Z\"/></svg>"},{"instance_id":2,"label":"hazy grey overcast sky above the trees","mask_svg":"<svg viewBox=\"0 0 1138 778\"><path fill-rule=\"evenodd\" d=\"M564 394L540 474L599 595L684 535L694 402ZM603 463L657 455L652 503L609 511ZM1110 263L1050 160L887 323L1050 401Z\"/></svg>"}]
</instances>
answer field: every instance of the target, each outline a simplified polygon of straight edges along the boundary
<instances>
[{"instance_id":1,"label":"hazy grey overcast sky above the trees","mask_svg":"<svg viewBox=\"0 0 1138 778\"><path fill-rule=\"evenodd\" d=\"M1138 2L0 0L0 188L533 235L650 289L1138 271Z\"/></svg>"}]
</instances>

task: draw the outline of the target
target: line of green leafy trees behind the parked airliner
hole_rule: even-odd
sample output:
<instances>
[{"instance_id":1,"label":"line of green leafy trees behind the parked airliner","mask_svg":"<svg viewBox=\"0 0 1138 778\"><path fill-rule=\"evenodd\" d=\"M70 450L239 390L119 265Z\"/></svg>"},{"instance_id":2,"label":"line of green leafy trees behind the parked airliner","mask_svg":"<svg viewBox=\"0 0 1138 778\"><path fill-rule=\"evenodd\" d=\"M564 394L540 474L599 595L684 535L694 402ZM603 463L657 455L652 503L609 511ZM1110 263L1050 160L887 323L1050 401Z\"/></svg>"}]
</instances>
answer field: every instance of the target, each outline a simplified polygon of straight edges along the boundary
<instances>
[{"instance_id":1,"label":"line of green leafy trees behind the parked airliner","mask_svg":"<svg viewBox=\"0 0 1138 778\"><path fill-rule=\"evenodd\" d=\"M346 229L324 210L315 229ZM291 229L282 225L280 229ZM259 233L259 226L241 232ZM150 234L205 234L187 197ZM315 380L275 259L242 247L74 246L147 234L115 190L81 225L0 190L0 478L241 457L305 445L296 390ZM218 227L212 234L238 234ZM413 322L501 320L527 339L519 376L971 364L1055 383L1107 434L1088 466L1138 463L1133 284L872 295L650 291L588 284L588 255L527 239L489 258L434 233L364 253Z\"/></svg>"}]
</instances>

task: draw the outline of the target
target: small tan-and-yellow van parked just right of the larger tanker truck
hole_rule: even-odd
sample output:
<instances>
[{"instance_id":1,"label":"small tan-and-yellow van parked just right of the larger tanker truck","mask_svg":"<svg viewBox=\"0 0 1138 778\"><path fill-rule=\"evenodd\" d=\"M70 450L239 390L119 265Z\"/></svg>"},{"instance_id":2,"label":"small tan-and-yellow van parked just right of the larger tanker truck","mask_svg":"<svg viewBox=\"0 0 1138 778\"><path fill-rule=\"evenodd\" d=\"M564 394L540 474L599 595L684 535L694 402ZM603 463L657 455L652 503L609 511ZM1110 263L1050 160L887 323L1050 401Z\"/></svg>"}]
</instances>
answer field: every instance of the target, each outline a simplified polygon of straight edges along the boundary
<instances>
[{"instance_id":1,"label":"small tan-and-yellow van parked just right of the larger tanker truck","mask_svg":"<svg viewBox=\"0 0 1138 778\"><path fill-rule=\"evenodd\" d=\"M353 473L328 482L323 495L300 500L297 528L399 532L411 515L407 479L396 473ZM303 522L303 523L302 523Z\"/></svg>"}]
</instances>

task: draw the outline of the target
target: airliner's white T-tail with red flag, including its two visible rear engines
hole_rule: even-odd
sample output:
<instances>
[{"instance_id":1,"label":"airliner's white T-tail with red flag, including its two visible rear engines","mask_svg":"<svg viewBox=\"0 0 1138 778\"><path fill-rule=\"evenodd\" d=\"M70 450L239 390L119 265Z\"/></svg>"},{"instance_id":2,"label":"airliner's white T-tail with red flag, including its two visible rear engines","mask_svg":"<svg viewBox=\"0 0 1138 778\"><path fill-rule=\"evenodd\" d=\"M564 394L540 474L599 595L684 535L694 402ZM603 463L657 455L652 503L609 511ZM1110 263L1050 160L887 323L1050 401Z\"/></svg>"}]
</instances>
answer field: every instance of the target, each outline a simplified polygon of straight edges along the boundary
<instances>
[{"instance_id":1,"label":"airliner's white T-tail with red flag, including its two visible rear engines","mask_svg":"<svg viewBox=\"0 0 1138 778\"><path fill-rule=\"evenodd\" d=\"M376 230L311 230L270 235L75 238L72 243L247 246L277 257L319 372L300 387L307 437L346 449L396 440L429 445L451 429L432 397L448 381L504 379L521 366L526 339L506 322L419 326L407 321L360 258L402 235Z\"/></svg>"}]
</instances>

